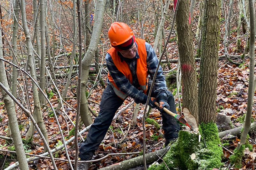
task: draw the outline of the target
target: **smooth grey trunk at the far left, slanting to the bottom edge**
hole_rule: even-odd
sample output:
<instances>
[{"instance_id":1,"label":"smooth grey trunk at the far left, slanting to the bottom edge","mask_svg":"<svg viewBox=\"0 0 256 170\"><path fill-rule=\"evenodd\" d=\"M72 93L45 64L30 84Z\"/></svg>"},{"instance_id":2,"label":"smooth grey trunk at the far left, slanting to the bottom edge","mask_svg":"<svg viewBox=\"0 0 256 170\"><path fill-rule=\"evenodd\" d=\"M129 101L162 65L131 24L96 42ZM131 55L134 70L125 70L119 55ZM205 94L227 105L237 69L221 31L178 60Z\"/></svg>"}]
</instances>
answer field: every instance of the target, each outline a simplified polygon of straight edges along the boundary
<instances>
[{"instance_id":1,"label":"smooth grey trunk at the far left, slanting to the bottom edge","mask_svg":"<svg viewBox=\"0 0 256 170\"><path fill-rule=\"evenodd\" d=\"M2 32L1 31L0 31L0 57L4 58L4 56L3 56L3 41L2 41ZM7 82L6 74L5 74L4 62L2 60L0 61L0 81L8 90L10 90L8 82ZM9 127L11 129L13 143L14 143L16 155L18 157L18 161L20 164L20 169L21 170L29 170L24 147L23 147L22 140L20 137L20 129L19 129L19 125L17 122L16 113L15 113L15 105L14 105L11 97L8 96L8 94L6 94L6 92L3 89L1 89L1 93L4 98L6 113L8 115L8 119L9 119Z\"/></svg>"}]
</instances>

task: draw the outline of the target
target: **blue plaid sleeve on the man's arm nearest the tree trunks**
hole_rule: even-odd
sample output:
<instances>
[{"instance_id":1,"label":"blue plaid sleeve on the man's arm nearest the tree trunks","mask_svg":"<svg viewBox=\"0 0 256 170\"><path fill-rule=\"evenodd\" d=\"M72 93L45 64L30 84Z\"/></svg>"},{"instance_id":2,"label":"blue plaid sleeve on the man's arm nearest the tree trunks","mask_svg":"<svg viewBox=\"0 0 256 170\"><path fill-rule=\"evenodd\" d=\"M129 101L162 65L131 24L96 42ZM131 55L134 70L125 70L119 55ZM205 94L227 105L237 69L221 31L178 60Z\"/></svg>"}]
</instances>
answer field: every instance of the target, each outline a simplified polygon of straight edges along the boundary
<instances>
[{"instance_id":1,"label":"blue plaid sleeve on the man's arm nearest the tree trunks","mask_svg":"<svg viewBox=\"0 0 256 170\"><path fill-rule=\"evenodd\" d=\"M158 65L158 59L151 45L148 44L147 42L145 43L145 45L146 45L146 51L147 51L148 73L150 75L150 78L153 79L154 74L156 72L157 65ZM154 85L156 89L155 90L156 97L158 97L159 95L164 95L165 97L167 96L168 94L167 87L166 87L166 82L165 82L165 78L164 78L164 74L161 66L157 71Z\"/></svg>"}]
</instances>

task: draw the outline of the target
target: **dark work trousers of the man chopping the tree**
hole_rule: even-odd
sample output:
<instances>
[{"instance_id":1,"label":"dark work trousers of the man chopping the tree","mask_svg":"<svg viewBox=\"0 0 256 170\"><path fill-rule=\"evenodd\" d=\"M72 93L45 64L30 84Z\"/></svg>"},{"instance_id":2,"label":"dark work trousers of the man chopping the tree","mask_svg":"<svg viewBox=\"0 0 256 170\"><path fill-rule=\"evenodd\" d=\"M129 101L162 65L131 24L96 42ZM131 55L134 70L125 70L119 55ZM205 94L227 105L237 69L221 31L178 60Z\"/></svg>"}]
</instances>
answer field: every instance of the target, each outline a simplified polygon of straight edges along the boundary
<instances>
[{"instance_id":1,"label":"dark work trousers of the man chopping the tree","mask_svg":"<svg viewBox=\"0 0 256 170\"><path fill-rule=\"evenodd\" d=\"M150 81L148 82L148 91L150 89ZM154 88L151 97L155 97ZM107 85L102 93L100 102L100 112L98 117L94 119L92 126L81 144L79 149L79 157L81 160L89 160L92 158L94 152L98 149L100 143L104 139L108 128L114 118L117 109L123 104L124 100L120 99L114 92L111 85ZM168 104L170 110L176 113L176 106L171 92L168 91ZM175 118L167 113L161 113L163 119L164 137L166 141L171 141L178 137L180 125Z\"/></svg>"}]
</instances>

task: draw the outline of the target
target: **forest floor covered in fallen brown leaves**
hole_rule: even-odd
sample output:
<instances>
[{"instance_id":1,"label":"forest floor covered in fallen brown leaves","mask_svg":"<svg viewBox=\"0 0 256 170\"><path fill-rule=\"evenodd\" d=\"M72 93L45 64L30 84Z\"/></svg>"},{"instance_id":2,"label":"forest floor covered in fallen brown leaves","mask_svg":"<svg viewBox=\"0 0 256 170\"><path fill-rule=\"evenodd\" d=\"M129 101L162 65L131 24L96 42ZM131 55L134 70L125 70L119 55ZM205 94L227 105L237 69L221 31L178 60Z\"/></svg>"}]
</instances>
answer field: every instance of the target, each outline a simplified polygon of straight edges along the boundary
<instances>
[{"instance_id":1,"label":"forest floor covered in fallen brown leaves","mask_svg":"<svg viewBox=\"0 0 256 170\"><path fill-rule=\"evenodd\" d=\"M218 87L217 87L217 100L216 100L216 110L220 113L231 116L231 120L235 126L241 125L243 122L243 115L246 113L246 103L247 103L247 91L248 91L248 79L249 79L249 59L245 57L245 60L242 61L240 58L234 60L235 62L240 62L241 65L237 66L227 62L226 60L219 60L219 69L218 69ZM172 63L171 67L175 67L177 64ZM198 65L197 65L198 66ZM163 70L168 70L164 68ZM93 81L93 75L90 77L90 80ZM106 75L103 75L103 80L106 82ZM101 88L100 85L96 86L92 90L91 96L89 98L89 107L98 114L99 112L99 104L101 99L101 94L104 89ZM170 89L172 91L174 89ZM76 108L76 99L73 97L74 94L69 91L67 102L74 108ZM255 99L255 97L254 97ZM182 100L182 98L181 98ZM51 98L53 107L56 107L58 104L57 95L54 94ZM124 101L125 107L128 103L132 101L131 98L127 98ZM1 101L1 121L0 121L0 135L5 136L7 134L8 128L8 118L5 113L4 103ZM178 106L178 100L176 100L176 104ZM122 108L121 107L121 108ZM219 108L219 109L218 109ZM19 108L16 108L19 110ZM93 159L99 159L102 155L106 155L107 153L128 153L128 152L141 152L143 148L143 129L142 129L142 118L144 113L144 105L140 105L140 111L137 117L137 124L133 125L131 123L132 114L133 114L134 106L132 105L128 109L126 109L122 114L118 115L118 118L112 122L110 129L108 130L107 135L102 141L100 148L95 152L95 157ZM54 117L51 115L51 111L48 107L44 107L44 121L46 128L49 130L49 142L50 147L53 149L56 146L62 144L61 136L59 134L58 126L54 120ZM255 118L255 104L252 110L252 117ZM66 107L67 114L74 119L76 112L72 110L70 107ZM25 137L26 131L28 128L28 120L24 114L17 116L20 120L20 129L22 133L22 137ZM159 111L157 109L152 109L149 114L149 118L154 119L158 124L162 125L162 119ZM63 133L66 138L72 129L71 123L66 123L66 119L63 116L59 115L59 121L62 125ZM131 124L130 124L131 123ZM67 125L69 129L67 128ZM84 126L80 127L85 128ZM163 148L164 145L164 134L163 129L157 129L154 125L146 124L146 151L153 152ZM68 132L69 131L69 132ZM87 132L83 134L86 137ZM72 136L71 136L72 137ZM256 162L256 141L255 141L255 132L250 134L250 143L253 145L253 150L249 151L245 150L245 156L243 157L243 169L254 169ZM122 143L120 143L122 141ZM37 144L43 144L41 138L38 133L34 136L34 142ZM237 143L239 142L239 138L232 139L230 141L222 141L226 149L223 149L224 158L223 162L225 162L226 168L232 168L232 165L229 165L228 157L232 154L233 150L236 148ZM110 144L111 143L111 144ZM228 143L228 144L227 144ZM110 144L110 145L109 145ZM108 145L108 146L106 146ZM43 146L36 145L25 145L24 146L27 153L30 154L42 154L44 152ZM0 139L0 149L3 150L13 150L11 144L6 144L4 139ZM74 142L68 144L69 155L71 156L71 160L74 159L75 156L75 147ZM8 162L9 165L14 163L16 158L15 154L8 153L6 156L5 152L3 153L4 157L1 160ZM133 157L137 157L140 154L134 155L116 155L111 156L101 161L92 163L91 170L96 170L108 165L112 165L118 162L121 162L126 159L131 159ZM5 157L6 156L6 157ZM60 159L66 159L65 151L58 151L54 154L54 157ZM3 159L4 158L4 159ZM51 169L52 166L48 166L50 159L40 159L34 162L30 162L29 166L31 169L39 169L39 170L48 170ZM1 162L0 162L1 163ZM69 165L67 162L56 161L57 166L60 169L66 170L69 169ZM224 169L225 166L220 169Z\"/></svg>"}]
</instances>

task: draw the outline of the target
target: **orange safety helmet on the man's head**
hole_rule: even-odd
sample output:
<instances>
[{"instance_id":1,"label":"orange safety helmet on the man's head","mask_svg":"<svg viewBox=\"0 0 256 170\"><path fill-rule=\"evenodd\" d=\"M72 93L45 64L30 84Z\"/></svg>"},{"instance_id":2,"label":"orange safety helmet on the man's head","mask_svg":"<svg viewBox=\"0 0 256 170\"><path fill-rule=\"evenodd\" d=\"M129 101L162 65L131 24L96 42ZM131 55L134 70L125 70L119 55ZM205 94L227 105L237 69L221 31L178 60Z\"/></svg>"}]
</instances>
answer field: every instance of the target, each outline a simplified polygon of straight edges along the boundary
<instances>
[{"instance_id":1,"label":"orange safety helmet on the man's head","mask_svg":"<svg viewBox=\"0 0 256 170\"><path fill-rule=\"evenodd\" d=\"M114 22L108 29L108 38L112 46L123 44L130 40L133 35L131 28L123 22Z\"/></svg>"}]
</instances>

